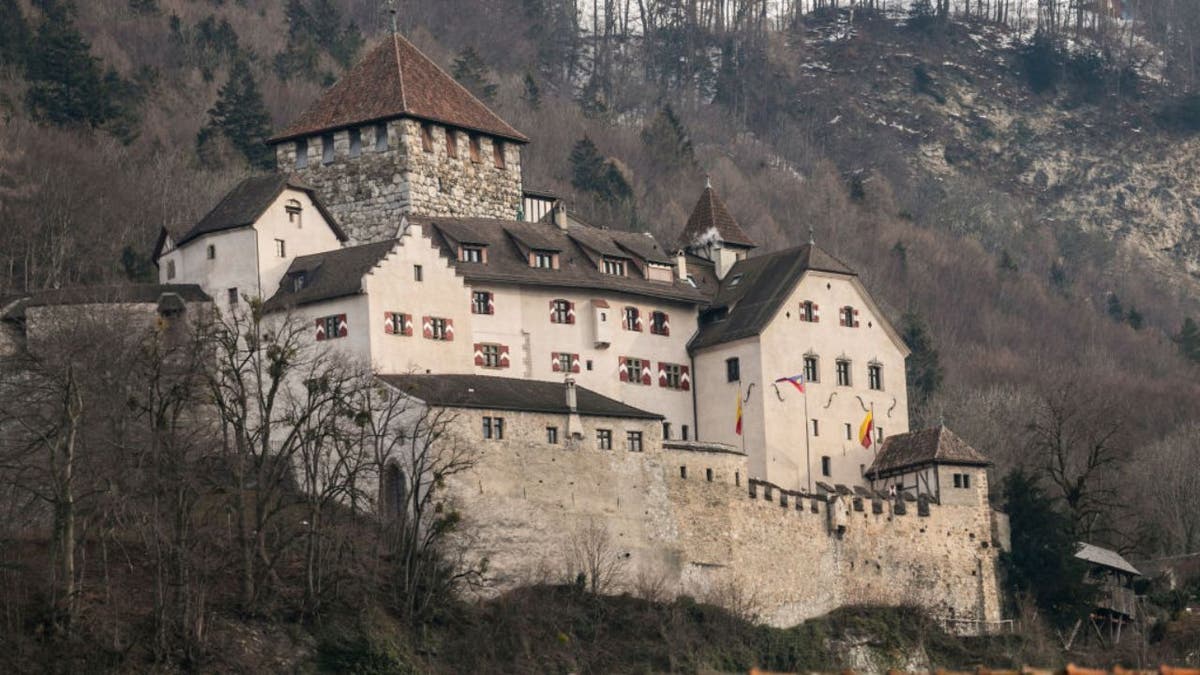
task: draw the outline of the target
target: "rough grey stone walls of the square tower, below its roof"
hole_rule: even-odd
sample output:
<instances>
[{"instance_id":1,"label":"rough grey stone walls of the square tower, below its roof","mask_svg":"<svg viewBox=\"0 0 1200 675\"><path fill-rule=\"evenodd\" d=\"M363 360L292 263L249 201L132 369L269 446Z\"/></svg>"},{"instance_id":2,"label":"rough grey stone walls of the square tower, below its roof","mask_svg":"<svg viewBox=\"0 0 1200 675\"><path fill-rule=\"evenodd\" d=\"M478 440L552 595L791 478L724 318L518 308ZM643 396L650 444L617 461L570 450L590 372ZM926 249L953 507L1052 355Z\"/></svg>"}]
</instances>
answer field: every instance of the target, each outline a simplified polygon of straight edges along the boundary
<instances>
[{"instance_id":1,"label":"rough grey stone walls of the square tower, below its roof","mask_svg":"<svg viewBox=\"0 0 1200 675\"><path fill-rule=\"evenodd\" d=\"M431 125L432 151L422 149L419 121L397 119L385 127L384 149L376 149L377 125L365 125L359 127L361 150L355 157L350 131L343 129L332 135L332 162L323 162L323 139L317 135L306 139L306 166L296 163L296 141L275 147L276 163L317 189L352 244L395 237L406 214L516 219L522 190L518 144L503 142L504 168L498 168L492 144L499 139L480 136L480 161L474 162L466 131L451 131L457 157L450 157L446 127Z\"/></svg>"}]
</instances>

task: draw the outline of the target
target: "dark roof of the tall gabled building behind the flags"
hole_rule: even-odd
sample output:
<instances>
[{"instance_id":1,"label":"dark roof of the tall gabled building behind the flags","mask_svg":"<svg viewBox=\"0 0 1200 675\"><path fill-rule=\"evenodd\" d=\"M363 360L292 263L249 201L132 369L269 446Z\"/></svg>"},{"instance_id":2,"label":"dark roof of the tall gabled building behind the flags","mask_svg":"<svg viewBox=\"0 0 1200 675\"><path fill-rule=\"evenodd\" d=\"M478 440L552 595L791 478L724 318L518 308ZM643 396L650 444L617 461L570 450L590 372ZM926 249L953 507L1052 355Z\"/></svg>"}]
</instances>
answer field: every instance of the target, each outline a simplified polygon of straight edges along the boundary
<instances>
[{"instance_id":1,"label":"dark roof of the tall gabled building behind the flags","mask_svg":"<svg viewBox=\"0 0 1200 675\"><path fill-rule=\"evenodd\" d=\"M700 331L689 348L702 350L757 335L809 270L854 276L846 263L815 244L738 261L721 280L716 297L706 311L706 315L724 315L724 318L702 318Z\"/></svg>"}]
</instances>

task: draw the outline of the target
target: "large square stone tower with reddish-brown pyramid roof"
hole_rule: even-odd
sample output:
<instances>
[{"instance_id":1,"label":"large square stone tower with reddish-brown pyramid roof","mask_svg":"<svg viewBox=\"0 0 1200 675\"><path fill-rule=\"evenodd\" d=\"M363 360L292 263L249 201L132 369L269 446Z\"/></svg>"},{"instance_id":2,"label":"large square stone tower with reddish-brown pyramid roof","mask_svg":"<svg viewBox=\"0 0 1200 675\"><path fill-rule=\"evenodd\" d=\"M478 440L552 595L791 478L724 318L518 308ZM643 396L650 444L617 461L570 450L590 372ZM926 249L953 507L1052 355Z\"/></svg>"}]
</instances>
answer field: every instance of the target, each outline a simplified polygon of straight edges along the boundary
<instances>
[{"instance_id":1,"label":"large square stone tower with reddish-brown pyramid roof","mask_svg":"<svg viewBox=\"0 0 1200 675\"><path fill-rule=\"evenodd\" d=\"M395 237L406 214L516 219L521 208L528 138L400 35L269 143L355 244Z\"/></svg>"}]
</instances>

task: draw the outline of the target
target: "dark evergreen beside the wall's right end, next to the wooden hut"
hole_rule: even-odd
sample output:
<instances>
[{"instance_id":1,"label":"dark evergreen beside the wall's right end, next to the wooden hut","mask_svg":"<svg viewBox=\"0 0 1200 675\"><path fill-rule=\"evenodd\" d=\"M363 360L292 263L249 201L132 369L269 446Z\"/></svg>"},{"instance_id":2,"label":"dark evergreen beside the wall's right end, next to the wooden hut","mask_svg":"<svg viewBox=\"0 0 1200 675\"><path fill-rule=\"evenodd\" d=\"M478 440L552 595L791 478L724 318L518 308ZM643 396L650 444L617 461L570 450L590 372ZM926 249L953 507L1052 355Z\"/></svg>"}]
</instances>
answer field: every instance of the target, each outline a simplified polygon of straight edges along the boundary
<instances>
[{"instance_id":1,"label":"dark evergreen beside the wall's right end, next to the wooden hut","mask_svg":"<svg viewBox=\"0 0 1200 675\"><path fill-rule=\"evenodd\" d=\"M1070 524L1021 470L1004 478L1003 494L1013 545L1001 560L1009 590L1031 595L1055 627L1067 629L1087 617L1096 595L1086 581L1086 563L1075 557Z\"/></svg>"}]
</instances>

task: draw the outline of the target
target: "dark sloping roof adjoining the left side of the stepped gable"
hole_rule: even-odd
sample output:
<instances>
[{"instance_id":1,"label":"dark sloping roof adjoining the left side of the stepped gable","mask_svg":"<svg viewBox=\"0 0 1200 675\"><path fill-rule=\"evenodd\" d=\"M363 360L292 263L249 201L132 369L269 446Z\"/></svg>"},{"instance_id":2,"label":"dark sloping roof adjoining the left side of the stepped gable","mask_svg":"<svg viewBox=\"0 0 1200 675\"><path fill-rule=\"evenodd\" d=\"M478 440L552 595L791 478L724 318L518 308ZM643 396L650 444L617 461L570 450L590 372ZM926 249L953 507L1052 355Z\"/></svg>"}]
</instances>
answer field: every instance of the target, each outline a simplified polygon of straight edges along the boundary
<instances>
[{"instance_id":1,"label":"dark sloping roof adjoining the left side of the stepped gable","mask_svg":"<svg viewBox=\"0 0 1200 675\"><path fill-rule=\"evenodd\" d=\"M362 292L362 276L396 246L396 239L300 256L280 280L280 289L263 305L265 311L332 300ZM296 289L294 283L302 275Z\"/></svg>"}]
</instances>

